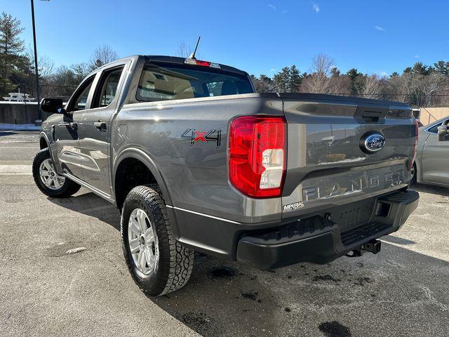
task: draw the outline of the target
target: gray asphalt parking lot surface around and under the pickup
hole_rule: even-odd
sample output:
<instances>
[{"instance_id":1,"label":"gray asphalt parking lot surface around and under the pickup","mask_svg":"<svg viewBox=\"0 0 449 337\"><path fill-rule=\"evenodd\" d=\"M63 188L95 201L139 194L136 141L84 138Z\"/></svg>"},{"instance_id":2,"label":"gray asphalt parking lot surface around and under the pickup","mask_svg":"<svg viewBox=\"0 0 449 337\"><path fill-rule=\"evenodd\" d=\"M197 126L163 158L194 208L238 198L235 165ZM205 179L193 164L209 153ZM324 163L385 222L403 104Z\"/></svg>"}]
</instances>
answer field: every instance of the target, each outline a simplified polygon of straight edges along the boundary
<instances>
[{"instance_id":1,"label":"gray asphalt parking lot surface around and under the pickup","mask_svg":"<svg viewBox=\"0 0 449 337\"><path fill-rule=\"evenodd\" d=\"M128 275L119 212L35 187L38 133L0 131L0 336L448 336L449 190L382 251L262 272L196 255L190 282L147 298Z\"/></svg>"}]
</instances>

